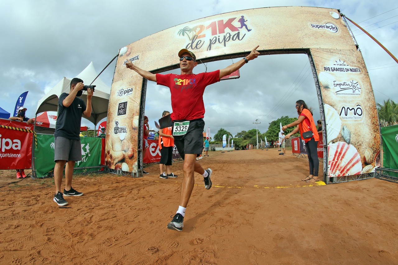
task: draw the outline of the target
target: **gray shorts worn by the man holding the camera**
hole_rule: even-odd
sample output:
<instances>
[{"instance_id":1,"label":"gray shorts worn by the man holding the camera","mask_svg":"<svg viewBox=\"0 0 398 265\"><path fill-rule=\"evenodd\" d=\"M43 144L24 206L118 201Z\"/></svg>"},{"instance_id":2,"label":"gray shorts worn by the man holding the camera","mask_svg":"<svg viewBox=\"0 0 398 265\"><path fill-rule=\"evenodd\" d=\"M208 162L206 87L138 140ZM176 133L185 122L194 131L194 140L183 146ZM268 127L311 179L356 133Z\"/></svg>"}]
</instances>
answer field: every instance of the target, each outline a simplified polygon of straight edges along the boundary
<instances>
[{"instance_id":1,"label":"gray shorts worn by the man holding the camera","mask_svg":"<svg viewBox=\"0 0 398 265\"><path fill-rule=\"evenodd\" d=\"M54 140L54 161L81 161L82 160L82 146L80 139L68 139L57 136Z\"/></svg>"}]
</instances>

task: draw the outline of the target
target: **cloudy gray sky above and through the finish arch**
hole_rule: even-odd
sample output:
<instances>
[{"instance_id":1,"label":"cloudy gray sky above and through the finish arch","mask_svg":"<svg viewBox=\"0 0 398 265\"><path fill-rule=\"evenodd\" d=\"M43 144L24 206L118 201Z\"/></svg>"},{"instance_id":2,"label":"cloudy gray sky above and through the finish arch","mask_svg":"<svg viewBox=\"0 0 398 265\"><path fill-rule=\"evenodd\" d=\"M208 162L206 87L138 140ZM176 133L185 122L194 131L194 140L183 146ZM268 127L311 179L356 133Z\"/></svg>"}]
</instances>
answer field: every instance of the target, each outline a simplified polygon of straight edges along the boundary
<instances>
[{"instance_id":1,"label":"cloudy gray sky above and through the finish arch","mask_svg":"<svg viewBox=\"0 0 398 265\"><path fill-rule=\"evenodd\" d=\"M26 116L34 117L41 97L63 77L77 76L91 61L99 73L121 47L148 35L195 19L251 8L336 8L398 56L398 4L392 0L186 3L179 0L156 1L156 4L136 0L0 1L0 107L12 113L18 96L29 91ZM398 102L398 64L361 30L349 25L369 70L376 102L388 98ZM232 62L211 62L207 70L224 68ZM109 87L114 69L115 62L100 76ZM199 64L194 73L205 70ZM206 127L211 127L212 136L220 127L232 135L255 129L256 120L263 133L271 121L281 116L296 117L298 99L313 107L314 119L319 119L314 79L306 55L261 56L244 65L240 75L239 79L221 81L205 91L205 122ZM146 115L150 129L155 129L153 121L164 110L171 110L170 91L148 82ZM83 119L82 123L94 128L89 121Z\"/></svg>"}]
</instances>

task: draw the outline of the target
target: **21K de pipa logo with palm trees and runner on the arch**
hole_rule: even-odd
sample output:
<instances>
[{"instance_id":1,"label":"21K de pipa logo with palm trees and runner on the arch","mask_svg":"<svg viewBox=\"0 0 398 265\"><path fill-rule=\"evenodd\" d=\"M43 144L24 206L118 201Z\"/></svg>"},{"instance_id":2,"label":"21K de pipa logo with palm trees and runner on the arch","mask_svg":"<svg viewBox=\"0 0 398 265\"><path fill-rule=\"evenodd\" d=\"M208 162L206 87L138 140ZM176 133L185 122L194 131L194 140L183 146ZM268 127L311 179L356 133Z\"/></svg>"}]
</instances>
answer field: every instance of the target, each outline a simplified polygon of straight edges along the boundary
<instances>
[{"instance_id":1,"label":"21K de pipa logo with palm trees and runner on the arch","mask_svg":"<svg viewBox=\"0 0 398 265\"><path fill-rule=\"evenodd\" d=\"M190 43L185 46L185 49L199 50L205 45L207 51L210 51L213 45L222 44L226 47L231 41L242 41L246 34L252 31L247 22L248 19L244 16L205 21L203 25L184 27L177 34L189 39Z\"/></svg>"}]
</instances>

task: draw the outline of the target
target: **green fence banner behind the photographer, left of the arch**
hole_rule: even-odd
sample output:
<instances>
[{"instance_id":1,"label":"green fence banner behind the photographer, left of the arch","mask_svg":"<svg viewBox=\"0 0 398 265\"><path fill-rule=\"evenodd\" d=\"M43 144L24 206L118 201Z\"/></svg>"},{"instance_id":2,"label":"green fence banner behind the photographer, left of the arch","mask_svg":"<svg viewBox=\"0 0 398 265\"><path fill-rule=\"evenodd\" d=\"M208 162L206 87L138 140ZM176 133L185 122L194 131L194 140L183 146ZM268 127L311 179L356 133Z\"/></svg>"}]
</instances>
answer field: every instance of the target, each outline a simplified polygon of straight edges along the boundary
<instances>
[{"instance_id":1,"label":"green fence banner behind the photographer, left of the arch","mask_svg":"<svg viewBox=\"0 0 398 265\"><path fill-rule=\"evenodd\" d=\"M99 168L87 168L101 165L101 138L80 137L82 161L75 164L74 174L98 171ZM54 171L54 135L37 134L37 146L34 153L36 177L44 177Z\"/></svg>"}]
</instances>

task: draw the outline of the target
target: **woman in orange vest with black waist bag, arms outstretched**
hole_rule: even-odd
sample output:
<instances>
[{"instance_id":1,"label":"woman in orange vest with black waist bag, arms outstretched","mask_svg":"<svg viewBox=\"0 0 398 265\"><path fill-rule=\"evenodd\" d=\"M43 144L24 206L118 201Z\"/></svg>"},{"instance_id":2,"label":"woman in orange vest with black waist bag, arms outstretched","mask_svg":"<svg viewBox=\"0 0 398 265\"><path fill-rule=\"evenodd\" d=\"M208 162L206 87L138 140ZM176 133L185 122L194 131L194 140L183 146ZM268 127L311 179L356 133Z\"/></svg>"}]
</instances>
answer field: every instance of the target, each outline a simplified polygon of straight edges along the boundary
<instances>
[{"instance_id":1,"label":"woman in orange vest with black waist bag, arms outstretched","mask_svg":"<svg viewBox=\"0 0 398 265\"><path fill-rule=\"evenodd\" d=\"M304 100L300 99L296 101L296 110L298 113L298 119L296 121L293 121L293 123L289 123L288 125L283 126L282 130L286 131L287 128L298 125L295 129L293 129L291 133L286 135L285 139L289 139L291 135L300 131L301 139L305 141L305 146L308 154L308 164L310 167L310 175L302 179L302 181L319 181L319 160L318 153L316 152L319 141L319 134L316 130L314 118L312 117L312 112L308 109Z\"/></svg>"}]
</instances>

